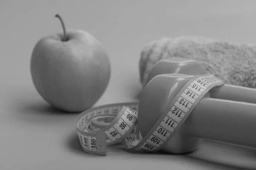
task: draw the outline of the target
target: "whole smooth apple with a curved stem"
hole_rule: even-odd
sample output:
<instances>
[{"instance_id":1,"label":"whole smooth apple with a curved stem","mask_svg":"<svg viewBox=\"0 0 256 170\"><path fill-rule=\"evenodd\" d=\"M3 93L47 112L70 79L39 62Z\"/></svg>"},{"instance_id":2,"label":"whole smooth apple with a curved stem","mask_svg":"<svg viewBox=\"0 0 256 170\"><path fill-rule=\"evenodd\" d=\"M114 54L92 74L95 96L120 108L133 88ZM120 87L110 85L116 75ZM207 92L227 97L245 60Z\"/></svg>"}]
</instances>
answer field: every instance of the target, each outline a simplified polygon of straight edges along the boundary
<instances>
[{"instance_id":1,"label":"whole smooth apple with a curved stem","mask_svg":"<svg viewBox=\"0 0 256 170\"><path fill-rule=\"evenodd\" d=\"M105 93L111 77L110 58L87 31L67 29L42 37L30 60L33 84L41 97L62 111L91 108Z\"/></svg>"}]
</instances>

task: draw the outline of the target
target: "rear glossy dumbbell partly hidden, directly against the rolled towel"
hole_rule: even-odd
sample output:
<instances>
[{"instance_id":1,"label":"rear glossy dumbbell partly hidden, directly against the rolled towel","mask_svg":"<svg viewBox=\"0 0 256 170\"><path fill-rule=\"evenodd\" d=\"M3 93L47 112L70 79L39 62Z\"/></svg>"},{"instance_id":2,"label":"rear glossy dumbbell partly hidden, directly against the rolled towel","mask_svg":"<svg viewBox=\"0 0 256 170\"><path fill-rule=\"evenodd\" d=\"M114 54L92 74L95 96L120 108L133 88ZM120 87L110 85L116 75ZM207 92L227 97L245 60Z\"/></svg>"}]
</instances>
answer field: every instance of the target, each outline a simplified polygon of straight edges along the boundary
<instances>
[{"instance_id":1,"label":"rear glossy dumbbell partly hidden, directly against the rolled towel","mask_svg":"<svg viewBox=\"0 0 256 170\"><path fill-rule=\"evenodd\" d=\"M207 74L203 66L193 60L182 57L172 57L161 59L155 63L150 73L148 74L148 83L153 77L159 74L180 73L189 75ZM211 98L227 99L239 102L256 103L256 89L247 88L237 85L224 84L217 86L209 91Z\"/></svg>"}]
</instances>

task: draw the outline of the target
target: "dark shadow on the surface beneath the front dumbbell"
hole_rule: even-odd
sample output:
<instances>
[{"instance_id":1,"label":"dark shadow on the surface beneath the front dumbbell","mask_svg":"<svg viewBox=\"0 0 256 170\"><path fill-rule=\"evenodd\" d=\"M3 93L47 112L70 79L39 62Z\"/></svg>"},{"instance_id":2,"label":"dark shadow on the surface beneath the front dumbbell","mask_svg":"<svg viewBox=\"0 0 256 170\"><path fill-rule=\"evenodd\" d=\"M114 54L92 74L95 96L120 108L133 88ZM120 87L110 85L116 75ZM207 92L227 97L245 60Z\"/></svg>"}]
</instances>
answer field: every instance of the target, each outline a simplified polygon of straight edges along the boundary
<instances>
[{"instance_id":1,"label":"dark shadow on the surface beneath the front dumbbell","mask_svg":"<svg viewBox=\"0 0 256 170\"><path fill-rule=\"evenodd\" d=\"M129 150L124 147L114 148L123 150L130 154L141 155L142 158L167 159L175 161L184 161L184 163L201 164L204 167L216 167L228 170L256 170L256 150L244 147L238 147L218 142L205 140L195 150L186 154L168 154L163 152L145 153Z\"/></svg>"}]
</instances>

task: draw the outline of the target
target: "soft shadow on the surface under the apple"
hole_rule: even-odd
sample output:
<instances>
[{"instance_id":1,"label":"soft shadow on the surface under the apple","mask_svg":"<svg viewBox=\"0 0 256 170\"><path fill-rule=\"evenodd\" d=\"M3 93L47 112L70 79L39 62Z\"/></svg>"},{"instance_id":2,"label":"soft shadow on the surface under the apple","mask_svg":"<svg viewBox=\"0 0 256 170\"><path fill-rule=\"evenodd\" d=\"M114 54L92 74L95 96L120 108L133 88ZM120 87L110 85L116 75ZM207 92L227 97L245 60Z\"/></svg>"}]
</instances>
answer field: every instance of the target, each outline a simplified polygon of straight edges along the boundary
<instances>
[{"instance_id":1,"label":"soft shadow on the surface under the apple","mask_svg":"<svg viewBox=\"0 0 256 170\"><path fill-rule=\"evenodd\" d=\"M26 93L27 92L27 93ZM52 125L57 122L64 123L74 121L79 113L61 111L49 105L38 94L31 91L20 91L13 96L10 102L10 111L13 118L23 122L40 123L42 125ZM13 107L14 106L14 107Z\"/></svg>"}]
</instances>

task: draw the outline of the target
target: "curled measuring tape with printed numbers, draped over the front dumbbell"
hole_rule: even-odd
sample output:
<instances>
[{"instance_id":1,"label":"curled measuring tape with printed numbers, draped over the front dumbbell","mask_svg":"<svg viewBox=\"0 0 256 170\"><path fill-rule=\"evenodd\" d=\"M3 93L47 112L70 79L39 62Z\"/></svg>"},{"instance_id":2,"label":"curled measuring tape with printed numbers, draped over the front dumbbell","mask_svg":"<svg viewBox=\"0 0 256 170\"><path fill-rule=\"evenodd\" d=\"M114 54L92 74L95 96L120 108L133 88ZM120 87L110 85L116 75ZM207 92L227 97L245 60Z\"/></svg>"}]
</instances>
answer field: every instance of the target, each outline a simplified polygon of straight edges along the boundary
<instances>
[{"instance_id":1,"label":"curled measuring tape with printed numbers, draped over the front dumbbell","mask_svg":"<svg viewBox=\"0 0 256 170\"><path fill-rule=\"evenodd\" d=\"M90 108L76 119L80 144L84 152L99 156L106 156L106 147L110 145L156 152L172 139L203 96L211 88L223 84L212 74L192 77L144 138L138 125L138 102Z\"/></svg>"}]
</instances>

